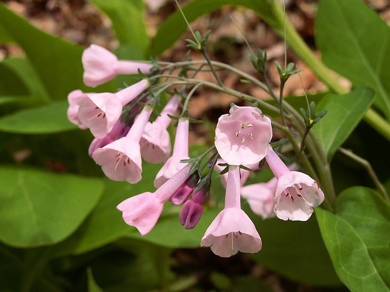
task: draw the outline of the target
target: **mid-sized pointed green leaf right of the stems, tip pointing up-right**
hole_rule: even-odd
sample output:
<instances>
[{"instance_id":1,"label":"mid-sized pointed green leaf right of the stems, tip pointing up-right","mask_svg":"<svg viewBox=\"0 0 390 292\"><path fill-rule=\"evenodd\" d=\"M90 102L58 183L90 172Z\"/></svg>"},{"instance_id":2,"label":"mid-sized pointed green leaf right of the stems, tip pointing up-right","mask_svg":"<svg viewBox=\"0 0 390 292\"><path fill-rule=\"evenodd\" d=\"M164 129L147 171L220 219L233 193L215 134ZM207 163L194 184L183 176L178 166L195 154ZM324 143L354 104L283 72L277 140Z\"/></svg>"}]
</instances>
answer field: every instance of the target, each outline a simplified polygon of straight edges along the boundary
<instances>
[{"instance_id":1,"label":"mid-sized pointed green leaf right of the stems, tip pointing up-right","mask_svg":"<svg viewBox=\"0 0 390 292\"><path fill-rule=\"evenodd\" d=\"M329 161L370 108L373 95L372 90L360 88L344 95L327 94L317 104L317 112L328 110L328 113L312 130L318 136Z\"/></svg>"}]
</instances>

